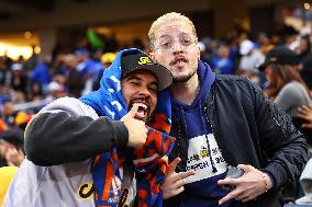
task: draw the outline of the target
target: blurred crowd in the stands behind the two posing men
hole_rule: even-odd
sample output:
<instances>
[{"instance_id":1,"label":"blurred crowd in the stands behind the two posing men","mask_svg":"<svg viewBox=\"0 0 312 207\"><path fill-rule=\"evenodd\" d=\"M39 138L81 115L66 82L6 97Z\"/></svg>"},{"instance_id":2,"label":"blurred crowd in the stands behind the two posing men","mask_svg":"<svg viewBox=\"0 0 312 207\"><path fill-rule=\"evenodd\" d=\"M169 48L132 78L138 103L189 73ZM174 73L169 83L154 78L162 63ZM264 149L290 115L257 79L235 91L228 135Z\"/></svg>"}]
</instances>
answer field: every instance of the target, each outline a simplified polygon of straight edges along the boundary
<instances>
[{"instance_id":1,"label":"blurred crowd in the stands behind the two posing men","mask_svg":"<svg viewBox=\"0 0 312 207\"><path fill-rule=\"evenodd\" d=\"M29 5L25 5L25 2ZM11 11L8 8L26 7L38 12L53 13L59 3L57 0L52 1L54 4L49 4L49 1L46 1L46 4L43 2L45 1L18 0L15 4L11 4L3 1L0 2L0 8ZM66 4L69 0L64 2ZM79 4L75 7L81 4L94 7L83 3L92 4L99 1L73 2ZM201 49L201 60L208 62L215 73L249 78L292 117L296 126L305 135L308 143L312 146L310 3L302 1L281 3L277 0L268 1L264 5L261 3L254 5L252 1L242 1L245 7L243 9L238 0L226 1L229 8L223 8L222 3L212 0L204 3L204 7L210 9L198 11L197 7L202 7L202 1L194 1L192 7L187 2L181 1L181 8L170 10L181 10L200 28L198 45ZM144 4L147 7L146 3ZM232 7L237 7L237 11L232 10ZM186 8L190 8L190 11ZM63 30L55 38L47 38L51 35L43 37L36 35L35 27L41 25L38 23L34 27L29 26L31 30L25 28L26 32L21 32L25 37L21 41L13 35L16 33L12 23L14 24L16 20L11 20L10 13L0 9L0 21L4 22L4 26L0 28L0 166L21 164L24 159L23 131L27 122L44 105L57 97L79 97L97 90L103 70L110 66L119 50L136 47L148 53L146 39L149 20L157 16L161 10L164 10L161 13L166 12L166 8L157 10L157 14L152 10L155 14L148 18L144 13L143 18L134 16L122 23L120 19L115 21L109 19L108 22L103 20L105 26L100 26L100 23L86 23L81 18L80 27L73 25L65 30L75 32L64 35ZM214 10L221 12L216 13ZM242 10L246 10L243 12L245 16L242 16ZM113 16L112 12L107 11L107 13ZM83 15L92 16L90 13ZM123 16L127 19L126 15ZM30 18L25 21L31 20ZM76 19L74 22L79 21ZM123 31L122 27L127 30ZM141 30L142 27L145 30ZM14 33L8 33L5 30ZM8 39L14 38L14 50L10 51L11 42ZM34 38L38 41L30 41ZM25 45L26 51L23 50ZM270 57L271 49L280 47L287 49L277 49L276 55L279 57L277 65L259 68L265 62L266 56ZM289 199L294 200L299 194L299 189L296 188L296 193L289 194Z\"/></svg>"}]
</instances>

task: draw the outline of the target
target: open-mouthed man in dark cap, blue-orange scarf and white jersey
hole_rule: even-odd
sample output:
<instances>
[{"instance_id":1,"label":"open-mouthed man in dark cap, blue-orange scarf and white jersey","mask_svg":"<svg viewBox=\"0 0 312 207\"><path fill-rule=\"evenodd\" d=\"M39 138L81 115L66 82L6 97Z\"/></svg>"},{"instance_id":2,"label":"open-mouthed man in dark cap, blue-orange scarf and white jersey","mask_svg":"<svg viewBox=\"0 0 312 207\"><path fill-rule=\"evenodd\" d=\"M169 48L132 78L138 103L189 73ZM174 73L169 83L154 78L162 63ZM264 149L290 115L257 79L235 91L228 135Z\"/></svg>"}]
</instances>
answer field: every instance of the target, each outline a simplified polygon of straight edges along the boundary
<instances>
[{"instance_id":1,"label":"open-mouthed man in dark cap, blue-orange scarf and white jersey","mask_svg":"<svg viewBox=\"0 0 312 207\"><path fill-rule=\"evenodd\" d=\"M98 91L45 106L26 128L27 159L3 206L124 206L135 196L140 206L161 206L175 140L171 82L165 67L125 49Z\"/></svg>"}]
</instances>

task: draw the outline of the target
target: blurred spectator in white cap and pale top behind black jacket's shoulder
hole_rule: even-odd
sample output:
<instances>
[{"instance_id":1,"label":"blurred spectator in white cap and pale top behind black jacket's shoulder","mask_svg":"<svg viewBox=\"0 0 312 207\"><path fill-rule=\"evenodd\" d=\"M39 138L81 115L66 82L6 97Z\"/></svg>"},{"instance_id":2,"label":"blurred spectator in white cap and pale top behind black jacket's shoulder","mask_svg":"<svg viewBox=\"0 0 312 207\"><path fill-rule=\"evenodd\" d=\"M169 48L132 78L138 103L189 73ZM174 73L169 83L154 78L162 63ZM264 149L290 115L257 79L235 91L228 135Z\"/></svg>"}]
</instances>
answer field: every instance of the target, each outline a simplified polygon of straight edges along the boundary
<instances>
[{"instance_id":1,"label":"blurred spectator in white cap and pale top behind black jacket's shoulder","mask_svg":"<svg viewBox=\"0 0 312 207\"><path fill-rule=\"evenodd\" d=\"M255 48L254 43L249 39L241 43L239 54L242 58L238 65L238 74L246 76L252 82L261 85L263 79L257 67L265 60L265 56Z\"/></svg>"}]
</instances>

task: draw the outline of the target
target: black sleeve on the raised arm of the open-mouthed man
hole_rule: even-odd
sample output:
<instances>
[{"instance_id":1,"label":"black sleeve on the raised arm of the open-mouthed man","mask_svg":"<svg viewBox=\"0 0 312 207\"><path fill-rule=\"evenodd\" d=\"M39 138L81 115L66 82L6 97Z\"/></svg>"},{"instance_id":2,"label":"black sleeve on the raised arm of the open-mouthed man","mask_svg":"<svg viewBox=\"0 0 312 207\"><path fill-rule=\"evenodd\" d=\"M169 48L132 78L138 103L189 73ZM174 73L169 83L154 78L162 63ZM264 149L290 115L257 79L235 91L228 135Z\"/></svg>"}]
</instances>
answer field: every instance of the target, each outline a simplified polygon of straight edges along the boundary
<instances>
[{"instance_id":1,"label":"black sleeve on the raised arm of the open-mouthed man","mask_svg":"<svg viewBox=\"0 0 312 207\"><path fill-rule=\"evenodd\" d=\"M53 104L54 110L58 106ZM112 147L126 146L129 134L122 122L90 117L87 115L90 108L78 111L78 115L79 105L75 108L76 112L45 108L35 116L25 131L29 160L37 165L55 165L83 161L109 151ZM89 115L91 113L90 111Z\"/></svg>"}]
</instances>

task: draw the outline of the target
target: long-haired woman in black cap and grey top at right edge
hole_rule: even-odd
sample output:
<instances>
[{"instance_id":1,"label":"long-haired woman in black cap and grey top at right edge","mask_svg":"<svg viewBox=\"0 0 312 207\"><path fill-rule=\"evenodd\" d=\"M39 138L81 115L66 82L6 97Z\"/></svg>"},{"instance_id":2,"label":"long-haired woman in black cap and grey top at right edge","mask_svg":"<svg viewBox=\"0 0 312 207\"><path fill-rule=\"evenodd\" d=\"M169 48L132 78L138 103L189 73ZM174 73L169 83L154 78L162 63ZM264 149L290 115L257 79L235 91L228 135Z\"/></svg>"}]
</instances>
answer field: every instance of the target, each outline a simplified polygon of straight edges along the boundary
<instances>
[{"instance_id":1,"label":"long-haired woman in black cap and grey top at right edge","mask_svg":"<svg viewBox=\"0 0 312 207\"><path fill-rule=\"evenodd\" d=\"M311 103L309 89L300 77L298 65L292 50L277 47L268 51L259 66L268 81L265 94L291 117L297 116L298 107Z\"/></svg>"}]
</instances>

